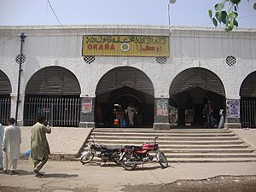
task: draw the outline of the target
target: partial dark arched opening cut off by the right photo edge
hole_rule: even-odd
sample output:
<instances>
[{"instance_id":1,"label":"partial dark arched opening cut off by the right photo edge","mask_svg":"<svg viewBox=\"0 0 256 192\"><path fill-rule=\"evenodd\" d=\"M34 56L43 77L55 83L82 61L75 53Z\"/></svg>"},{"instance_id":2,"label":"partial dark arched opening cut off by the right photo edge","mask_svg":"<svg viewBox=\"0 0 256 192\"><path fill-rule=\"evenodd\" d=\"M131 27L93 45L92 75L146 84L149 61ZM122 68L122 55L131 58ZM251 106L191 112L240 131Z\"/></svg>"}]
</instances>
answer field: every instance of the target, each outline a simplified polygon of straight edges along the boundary
<instances>
[{"instance_id":1,"label":"partial dark arched opening cut off by the right photo edge","mask_svg":"<svg viewBox=\"0 0 256 192\"><path fill-rule=\"evenodd\" d=\"M250 73L241 84L241 126L256 127L256 72Z\"/></svg>"}]
</instances>

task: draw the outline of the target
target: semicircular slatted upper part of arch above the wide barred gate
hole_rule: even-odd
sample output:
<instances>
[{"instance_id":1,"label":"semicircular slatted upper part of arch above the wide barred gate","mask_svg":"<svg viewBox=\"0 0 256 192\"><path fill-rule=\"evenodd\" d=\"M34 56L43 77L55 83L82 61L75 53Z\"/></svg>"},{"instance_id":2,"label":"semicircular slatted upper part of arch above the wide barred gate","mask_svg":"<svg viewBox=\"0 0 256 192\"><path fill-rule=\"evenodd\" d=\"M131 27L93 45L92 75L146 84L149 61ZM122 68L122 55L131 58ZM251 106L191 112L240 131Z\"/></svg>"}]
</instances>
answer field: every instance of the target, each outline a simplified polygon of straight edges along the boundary
<instances>
[{"instance_id":1,"label":"semicircular slatted upper part of arch above the wide barred gate","mask_svg":"<svg viewBox=\"0 0 256 192\"><path fill-rule=\"evenodd\" d=\"M29 95L80 95L76 76L64 67L44 67L26 84Z\"/></svg>"}]
</instances>

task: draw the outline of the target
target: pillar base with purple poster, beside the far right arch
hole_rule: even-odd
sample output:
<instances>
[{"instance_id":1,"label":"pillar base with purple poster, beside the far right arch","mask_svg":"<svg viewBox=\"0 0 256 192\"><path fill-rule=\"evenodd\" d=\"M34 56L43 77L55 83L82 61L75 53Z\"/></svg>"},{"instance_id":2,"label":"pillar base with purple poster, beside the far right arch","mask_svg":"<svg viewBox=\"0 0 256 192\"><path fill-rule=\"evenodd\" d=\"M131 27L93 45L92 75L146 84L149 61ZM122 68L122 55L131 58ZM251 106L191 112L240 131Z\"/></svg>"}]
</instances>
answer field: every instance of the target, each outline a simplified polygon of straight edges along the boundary
<instances>
[{"instance_id":1,"label":"pillar base with purple poster, beside the far right arch","mask_svg":"<svg viewBox=\"0 0 256 192\"><path fill-rule=\"evenodd\" d=\"M224 128L241 128L240 98L226 99L226 119Z\"/></svg>"}]
</instances>

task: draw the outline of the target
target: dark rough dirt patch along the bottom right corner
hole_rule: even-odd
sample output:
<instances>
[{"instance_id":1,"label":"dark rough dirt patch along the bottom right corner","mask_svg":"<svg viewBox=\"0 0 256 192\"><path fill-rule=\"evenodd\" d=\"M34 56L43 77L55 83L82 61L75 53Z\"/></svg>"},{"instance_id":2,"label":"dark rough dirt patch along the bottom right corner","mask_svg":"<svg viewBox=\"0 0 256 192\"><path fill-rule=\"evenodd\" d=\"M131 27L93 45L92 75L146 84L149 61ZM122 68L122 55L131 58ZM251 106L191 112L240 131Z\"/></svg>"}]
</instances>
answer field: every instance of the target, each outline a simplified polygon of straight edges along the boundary
<instances>
[{"instance_id":1,"label":"dark rough dirt patch along the bottom right corner","mask_svg":"<svg viewBox=\"0 0 256 192\"><path fill-rule=\"evenodd\" d=\"M256 176L218 176L204 180L179 180L165 185L125 186L125 192L255 192Z\"/></svg>"}]
</instances>

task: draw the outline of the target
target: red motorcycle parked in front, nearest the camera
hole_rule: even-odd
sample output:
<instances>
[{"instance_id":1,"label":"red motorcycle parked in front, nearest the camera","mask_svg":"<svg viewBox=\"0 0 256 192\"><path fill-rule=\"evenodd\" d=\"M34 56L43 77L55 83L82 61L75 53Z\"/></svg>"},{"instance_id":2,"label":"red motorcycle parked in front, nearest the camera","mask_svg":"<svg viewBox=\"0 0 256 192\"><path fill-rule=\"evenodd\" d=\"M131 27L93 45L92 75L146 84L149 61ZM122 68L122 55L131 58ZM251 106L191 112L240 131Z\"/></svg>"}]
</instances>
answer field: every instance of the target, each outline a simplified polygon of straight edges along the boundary
<instances>
[{"instance_id":1,"label":"red motorcycle parked in front, nearest the camera","mask_svg":"<svg viewBox=\"0 0 256 192\"><path fill-rule=\"evenodd\" d=\"M154 137L153 143L144 143L142 146L123 146L122 154L120 154L119 158L121 166L123 166L125 170L131 171L134 170L137 165L152 162L154 156L150 155L149 152L153 151L155 152L156 160L160 166L166 168L168 166L168 160L166 159L166 155L160 151L158 143L156 143L157 138L158 137Z\"/></svg>"}]
</instances>

